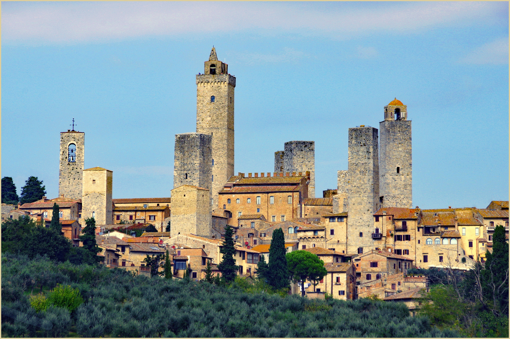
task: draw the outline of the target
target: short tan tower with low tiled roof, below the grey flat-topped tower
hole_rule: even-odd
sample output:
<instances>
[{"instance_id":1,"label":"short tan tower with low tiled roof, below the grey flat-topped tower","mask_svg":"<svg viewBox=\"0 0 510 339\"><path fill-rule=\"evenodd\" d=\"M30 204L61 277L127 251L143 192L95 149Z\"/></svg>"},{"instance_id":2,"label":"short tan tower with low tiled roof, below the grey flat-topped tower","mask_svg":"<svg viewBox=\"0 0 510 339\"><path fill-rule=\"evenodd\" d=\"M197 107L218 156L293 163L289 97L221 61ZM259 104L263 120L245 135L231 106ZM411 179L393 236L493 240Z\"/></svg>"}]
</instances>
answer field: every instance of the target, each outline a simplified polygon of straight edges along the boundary
<instances>
[{"instance_id":1,"label":"short tan tower with low tiled roof, below the grey flat-topped tower","mask_svg":"<svg viewBox=\"0 0 510 339\"><path fill-rule=\"evenodd\" d=\"M209 190L183 185L172 191L172 212L170 214L170 237L177 234L195 234L211 238L212 216Z\"/></svg>"}]
</instances>

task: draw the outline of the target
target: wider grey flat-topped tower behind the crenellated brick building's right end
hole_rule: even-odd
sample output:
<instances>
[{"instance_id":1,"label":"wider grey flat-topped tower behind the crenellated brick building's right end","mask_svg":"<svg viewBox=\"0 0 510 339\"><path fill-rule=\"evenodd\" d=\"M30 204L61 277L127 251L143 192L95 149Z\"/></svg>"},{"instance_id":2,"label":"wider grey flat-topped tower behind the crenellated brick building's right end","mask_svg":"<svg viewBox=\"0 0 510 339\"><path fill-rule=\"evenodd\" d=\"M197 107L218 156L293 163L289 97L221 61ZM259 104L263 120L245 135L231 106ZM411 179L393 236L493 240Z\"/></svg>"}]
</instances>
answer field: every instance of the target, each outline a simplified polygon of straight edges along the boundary
<instances>
[{"instance_id":1,"label":"wider grey flat-topped tower behind the crenellated brick building's right end","mask_svg":"<svg viewBox=\"0 0 510 339\"><path fill-rule=\"evenodd\" d=\"M308 197L315 198L315 141L286 142L283 172L306 171L310 171Z\"/></svg>"}]
</instances>

